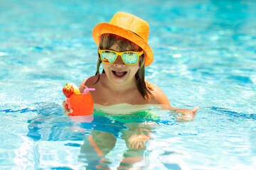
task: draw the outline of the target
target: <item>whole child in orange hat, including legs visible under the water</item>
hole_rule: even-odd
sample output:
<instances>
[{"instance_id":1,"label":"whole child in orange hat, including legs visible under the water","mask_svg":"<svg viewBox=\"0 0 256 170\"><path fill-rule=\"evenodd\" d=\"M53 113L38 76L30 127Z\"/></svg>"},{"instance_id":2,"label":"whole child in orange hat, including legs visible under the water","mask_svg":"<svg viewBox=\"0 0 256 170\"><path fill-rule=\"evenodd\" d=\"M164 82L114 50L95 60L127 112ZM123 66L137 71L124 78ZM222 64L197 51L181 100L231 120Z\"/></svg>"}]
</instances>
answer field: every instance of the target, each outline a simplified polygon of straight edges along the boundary
<instances>
[{"instance_id":1,"label":"whole child in orange hat, including legs visible under the water","mask_svg":"<svg viewBox=\"0 0 256 170\"><path fill-rule=\"evenodd\" d=\"M147 44L148 36L148 23L124 12L116 13L110 23L100 23L95 26L92 37L98 45L97 72L94 77L82 81L81 85L96 89L90 92L95 108L105 113L132 113L149 106L161 106L164 109L183 113L186 115L184 118L191 120L198 108L189 111L172 107L164 92L144 79L145 67L154 60L151 47ZM100 74L100 64L103 66L102 74ZM63 101L64 108L65 103L66 101ZM66 115L71 112L72 109L65 108ZM179 118L176 120L184 120ZM97 130L95 126L81 147L81 152L85 152L85 155L90 155L88 154L91 152L90 146L94 147L97 157L101 160L99 163L106 160L105 155L114 148L116 142L117 136L108 132L110 131L108 129L111 126L122 129L122 125L106 123L107 121L103 123L108 124L106 130ZM127 152L124 153L119 168L127 169L143 159L145 143L150 139L154 123L126 123L124 126L128 128L121 130ZM93 158L87 158L88 166L90 162L95 162L96 159Z\"/></svg>"}]
</instances>

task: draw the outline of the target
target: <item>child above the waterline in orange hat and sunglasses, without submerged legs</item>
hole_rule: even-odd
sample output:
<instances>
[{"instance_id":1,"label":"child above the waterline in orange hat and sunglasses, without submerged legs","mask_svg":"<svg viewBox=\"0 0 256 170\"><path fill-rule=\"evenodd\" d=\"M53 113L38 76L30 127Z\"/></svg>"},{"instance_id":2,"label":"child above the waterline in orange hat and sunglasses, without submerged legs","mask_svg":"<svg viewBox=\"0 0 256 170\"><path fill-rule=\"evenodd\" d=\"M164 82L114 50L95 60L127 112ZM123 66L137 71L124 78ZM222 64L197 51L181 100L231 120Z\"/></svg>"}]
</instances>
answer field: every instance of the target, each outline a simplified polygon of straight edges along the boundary
<instances>
[{"instance_id":1,"label":"child above the waterline in orange hat and sunglasses, without submerged legs","mask_svg":"<svg viewBox=\"0 0 256 170\"><path fill-rule=\"evenodd\" d=\"M100 23L92 31L98 45L97 72L94 77L82 81L91 91L95 108L107 113L132 112L148 106L184 113L189 118L198 111L193 108L178 109L171 106L161 89L144 79L144 69L154 60L147 44L149 24L129 13L116 13L110 23ZM103 66L100 74L100 64ZM65 108L66 101L63 101ZM72 109L65 108L65 114ZM190 112L190 115L187 114Z\"/></svg>"}]
</instances>

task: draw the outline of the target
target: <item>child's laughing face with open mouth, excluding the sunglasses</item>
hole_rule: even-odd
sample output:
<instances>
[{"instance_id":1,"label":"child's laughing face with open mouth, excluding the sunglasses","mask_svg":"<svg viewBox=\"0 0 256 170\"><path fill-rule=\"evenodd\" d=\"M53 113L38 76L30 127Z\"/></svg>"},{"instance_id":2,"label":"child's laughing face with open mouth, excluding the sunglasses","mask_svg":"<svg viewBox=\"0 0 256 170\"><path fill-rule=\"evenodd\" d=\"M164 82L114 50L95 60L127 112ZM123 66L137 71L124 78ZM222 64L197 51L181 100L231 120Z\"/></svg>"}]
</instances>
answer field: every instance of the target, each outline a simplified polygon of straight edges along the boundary
<instances>
[{"instance_id":1,"label":"child's laughing face with open mouth, excluding the sunglasses","mask_svg":"<svg viewBox=\"0 0 256 170\"><path fill-rule=\"evenodd\" d=\"M109 50L119 52L117 44L112 45ZM126 51L132 51L132 47L127 47ZM110 83L116 86L129 86L135 82L135 74L139 69L139 62L137 62L137 64L128 65L122 61L121 56L117 56L117 60L115 60L113 63L102 64L107 75L107 79L110 81Z\"/></svg>"}]
</instances>

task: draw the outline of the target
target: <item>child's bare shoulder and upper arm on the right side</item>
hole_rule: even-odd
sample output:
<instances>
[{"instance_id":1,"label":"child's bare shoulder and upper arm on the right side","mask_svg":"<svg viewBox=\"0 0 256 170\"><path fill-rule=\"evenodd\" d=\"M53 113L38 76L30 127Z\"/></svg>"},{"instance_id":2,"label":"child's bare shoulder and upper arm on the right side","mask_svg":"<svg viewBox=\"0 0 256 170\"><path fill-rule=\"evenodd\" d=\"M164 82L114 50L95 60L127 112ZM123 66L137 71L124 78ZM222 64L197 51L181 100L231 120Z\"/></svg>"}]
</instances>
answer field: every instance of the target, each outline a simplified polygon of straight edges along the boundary
<instances>
[{"instance_id":1,"label":"child's bare shoulder and upper arm on the right side","mask_svg":"<svg viewBox=\"0 0 256 170\"><path fill-rule=\"evenodd\" d=\"M147 83L151 86L151 103L152 104L160 104L165 106L171 106L169 99L164 94L164 92L160 89L159 86L156 86L156 84L152 84L151 82L147 81Z\"/></svg>"}]
</instances>

